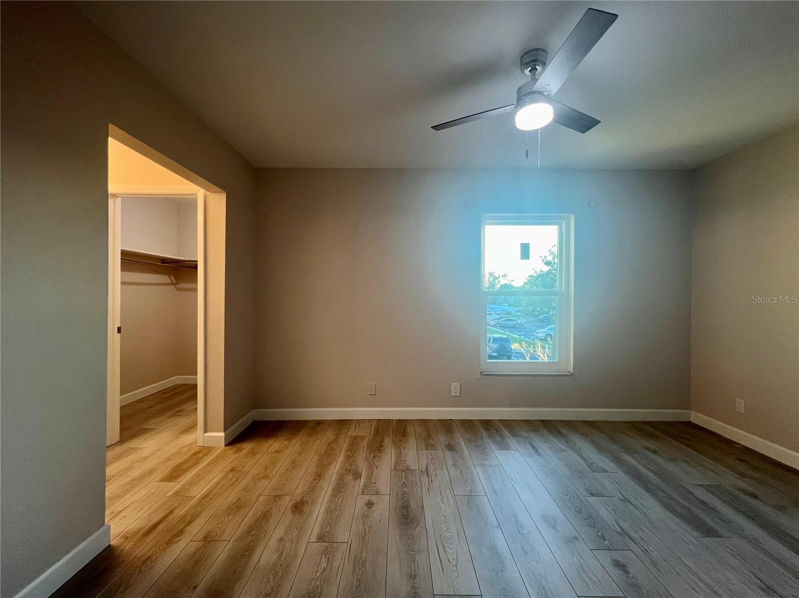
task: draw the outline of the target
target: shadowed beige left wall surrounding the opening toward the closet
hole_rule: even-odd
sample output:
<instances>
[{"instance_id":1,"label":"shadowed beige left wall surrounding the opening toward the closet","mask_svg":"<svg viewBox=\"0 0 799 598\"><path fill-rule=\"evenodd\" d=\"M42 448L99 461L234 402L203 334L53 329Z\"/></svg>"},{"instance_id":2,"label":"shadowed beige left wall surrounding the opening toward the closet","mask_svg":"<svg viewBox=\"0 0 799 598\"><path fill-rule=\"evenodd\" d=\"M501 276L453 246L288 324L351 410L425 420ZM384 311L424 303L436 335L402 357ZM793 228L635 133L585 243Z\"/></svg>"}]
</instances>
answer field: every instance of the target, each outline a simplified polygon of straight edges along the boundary
<instances>
[{"instance_id":1,"label":"shadowed beige left wall surrounding the opening toward the closet","mask_svg":"<svg viewBox=\"0 0 799 598\"><path fill-rule=\"evenodd\" d=\"M252 408L255 171L70 3L0 6L0 593L14 596L105 523L109 123L227 193L225 413L209 431Z\"/></svg>"}]
</instances>

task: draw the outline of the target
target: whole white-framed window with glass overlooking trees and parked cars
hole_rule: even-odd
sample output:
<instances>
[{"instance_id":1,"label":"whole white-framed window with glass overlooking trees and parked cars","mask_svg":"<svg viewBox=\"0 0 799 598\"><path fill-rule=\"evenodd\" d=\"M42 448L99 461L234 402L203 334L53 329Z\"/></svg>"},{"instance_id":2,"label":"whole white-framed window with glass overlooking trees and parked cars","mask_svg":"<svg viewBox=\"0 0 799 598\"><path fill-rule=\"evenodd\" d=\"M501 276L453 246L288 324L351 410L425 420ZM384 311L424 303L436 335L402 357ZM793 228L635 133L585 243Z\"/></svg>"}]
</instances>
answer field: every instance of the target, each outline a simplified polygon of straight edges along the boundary
<instances>
[{"instance_id":1,"label":"whole white-framed window with glass overlooking trees and parked cars","mask_svg":"<svg viewBox=\"0 0 799 598\"><path fill-rule=\"evenodd\" d=\"M570 374L570 214L483 215L481 374Z\"/></svg>"}]
</instances>

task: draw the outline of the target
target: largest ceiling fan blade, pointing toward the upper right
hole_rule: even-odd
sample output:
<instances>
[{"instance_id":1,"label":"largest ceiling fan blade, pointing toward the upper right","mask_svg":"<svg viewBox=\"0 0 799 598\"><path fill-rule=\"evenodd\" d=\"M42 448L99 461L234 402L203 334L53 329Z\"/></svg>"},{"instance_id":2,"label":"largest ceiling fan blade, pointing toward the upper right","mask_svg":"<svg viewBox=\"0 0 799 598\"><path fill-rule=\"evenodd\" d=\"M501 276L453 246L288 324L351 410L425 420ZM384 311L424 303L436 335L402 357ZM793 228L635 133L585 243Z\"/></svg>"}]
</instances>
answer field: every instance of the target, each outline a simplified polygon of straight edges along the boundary
<instances>
[{"instance_id":1,"label":"largest ceiling fan blade, pointing toward the upper right","mask_svg":"<svg viewBox=\"0 0 799 598\"><path fill-rule=\"evenodd\" d=\"M547 93L558 91L617 18L618 14L606 13L604 10L586 10L533 89Z\"/></svg>"}]
</instances>

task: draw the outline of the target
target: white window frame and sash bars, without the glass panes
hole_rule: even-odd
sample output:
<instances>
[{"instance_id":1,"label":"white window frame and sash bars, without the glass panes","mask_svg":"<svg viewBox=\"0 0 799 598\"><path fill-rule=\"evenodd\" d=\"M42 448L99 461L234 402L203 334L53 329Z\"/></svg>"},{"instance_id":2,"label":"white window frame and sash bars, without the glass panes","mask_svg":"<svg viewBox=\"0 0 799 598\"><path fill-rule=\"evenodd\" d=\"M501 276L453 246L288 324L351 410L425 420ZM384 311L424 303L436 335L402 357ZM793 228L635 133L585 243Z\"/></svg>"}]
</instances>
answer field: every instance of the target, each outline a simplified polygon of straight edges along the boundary
<instances>
[{"instance_id":1,"label":"white window frame and sash bars, without the glass panes","mask_svg":"<svg viewBox=\"0 0 799 598\"><path fill-rule=\"evenodd\" d=\"M558 226L558 288L552 291L532 289L485 288L486 225L489 224L550 224ZM569 375L574 371L574 215L573 214L483 214L480 224L480 374L555 374ZM486 339L488 328L486 311L490 295L555 296L555 331L557 360L534 361L488 361Z\"/></svg>"}]
</instances>

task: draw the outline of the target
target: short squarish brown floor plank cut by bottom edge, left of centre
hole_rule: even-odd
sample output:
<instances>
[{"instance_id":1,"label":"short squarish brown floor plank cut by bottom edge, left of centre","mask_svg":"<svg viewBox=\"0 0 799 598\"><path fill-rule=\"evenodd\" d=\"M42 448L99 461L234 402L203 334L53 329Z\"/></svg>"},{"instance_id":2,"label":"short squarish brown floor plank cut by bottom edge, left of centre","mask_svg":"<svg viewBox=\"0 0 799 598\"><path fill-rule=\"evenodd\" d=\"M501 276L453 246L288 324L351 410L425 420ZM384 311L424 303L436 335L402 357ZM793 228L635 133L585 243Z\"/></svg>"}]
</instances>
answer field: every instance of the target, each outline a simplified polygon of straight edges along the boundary
<instances>
[{"instance_id":1,"label":"short squarish brown floor plank cut by bottom edge, left of centre","mask_svg":"<svg viewBox=\"0 0 799 598\"><path fill-rule=\"evenodd\" d=\"M308 542L288 598L336 598L344 552L343 542Z\"/></svg>"}]
</instances>

